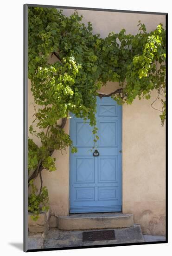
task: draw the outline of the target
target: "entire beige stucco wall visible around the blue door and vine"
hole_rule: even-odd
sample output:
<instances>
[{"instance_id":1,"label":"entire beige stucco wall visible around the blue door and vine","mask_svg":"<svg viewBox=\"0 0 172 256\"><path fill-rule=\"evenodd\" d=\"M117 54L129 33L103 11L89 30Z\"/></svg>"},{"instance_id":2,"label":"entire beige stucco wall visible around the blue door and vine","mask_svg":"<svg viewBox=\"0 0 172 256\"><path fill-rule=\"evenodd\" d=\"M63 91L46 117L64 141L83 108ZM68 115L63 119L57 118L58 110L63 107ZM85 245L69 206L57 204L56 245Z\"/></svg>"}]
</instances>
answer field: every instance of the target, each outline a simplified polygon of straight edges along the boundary
<instances>
[{"instance_id":1,"label":"entire beige stucco wall visible around the blue door and vine","mask_svg":"<svg viewBox=\"0 0 172 256\"><path fill-rule=\"evenodd\" d=\"M64 10L70 15L73 10ZM83 22L90 21L93 33L105 37L109 32L118 33L122 28L126 33L136 34L138 20L154 29L160 22L165 25L165 16L133 13L113 13L83 11ZM51 60L53 61L53 60ZM118 87L109 82L101 89L108 93ZM143 233L165 234L165 127L160 125L159 111L151 108L156 98L152 93L150 100L134 100L132 105L124 105L122 110L122 212L134 213L134 222L140 223ZM34 102L28 86L28 121L32 123ZM159 103L156 103L159 104ZM157 108L161 107L155 105ZM65 125L69 133L69 120ZM31 136L32 137L32 136ZM55 172L43 171L44 186L48 187L51 213L69 214L69 148L57 158ZM36 181L39 185L39 179Z\"/></svg>"}]
</instances>

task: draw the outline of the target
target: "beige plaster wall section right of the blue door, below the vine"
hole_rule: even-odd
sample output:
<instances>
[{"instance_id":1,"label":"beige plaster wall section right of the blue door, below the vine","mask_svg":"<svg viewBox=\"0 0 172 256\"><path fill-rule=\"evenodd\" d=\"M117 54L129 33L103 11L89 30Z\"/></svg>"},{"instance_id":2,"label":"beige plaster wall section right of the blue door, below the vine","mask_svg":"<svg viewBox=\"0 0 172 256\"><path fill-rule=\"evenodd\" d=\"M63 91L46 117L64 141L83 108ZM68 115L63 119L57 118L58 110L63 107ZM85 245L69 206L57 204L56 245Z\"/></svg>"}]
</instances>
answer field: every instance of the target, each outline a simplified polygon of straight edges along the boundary
<instances>
[{"instance_id":1,"label":"beige plaster wall section right of the blue door, below the vine","mask_svg":"<svg viewBox=\"0 0 172 256\"><path fill-rule=\"evenodd\" d=\"M123 107L123 213L134 213L146 234L165 234L165 127L147 100ZM157 104L157 108L161 106Z\"/></svg>"}]
</instances>

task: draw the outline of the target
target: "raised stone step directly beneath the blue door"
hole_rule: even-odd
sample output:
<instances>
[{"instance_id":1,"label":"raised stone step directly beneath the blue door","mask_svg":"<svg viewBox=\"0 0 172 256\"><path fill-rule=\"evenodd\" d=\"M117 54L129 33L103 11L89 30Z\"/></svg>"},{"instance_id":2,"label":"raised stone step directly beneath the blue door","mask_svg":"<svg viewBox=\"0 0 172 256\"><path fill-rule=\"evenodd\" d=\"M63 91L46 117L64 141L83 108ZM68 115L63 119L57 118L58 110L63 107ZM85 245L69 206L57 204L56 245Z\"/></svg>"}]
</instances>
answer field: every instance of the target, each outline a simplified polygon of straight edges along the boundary
<instances>
[{"instance_id":1,"label":"raised stone step directly beneath the blue door","mask_svg":"<svg viewBox=\"0 0 172 256\"><path fill-rule=\"evenodd\" d=\"M128 228L134 225L133 214L84 213L58 216L57 228L62 230Z\"/></svg>"}]
</instances>

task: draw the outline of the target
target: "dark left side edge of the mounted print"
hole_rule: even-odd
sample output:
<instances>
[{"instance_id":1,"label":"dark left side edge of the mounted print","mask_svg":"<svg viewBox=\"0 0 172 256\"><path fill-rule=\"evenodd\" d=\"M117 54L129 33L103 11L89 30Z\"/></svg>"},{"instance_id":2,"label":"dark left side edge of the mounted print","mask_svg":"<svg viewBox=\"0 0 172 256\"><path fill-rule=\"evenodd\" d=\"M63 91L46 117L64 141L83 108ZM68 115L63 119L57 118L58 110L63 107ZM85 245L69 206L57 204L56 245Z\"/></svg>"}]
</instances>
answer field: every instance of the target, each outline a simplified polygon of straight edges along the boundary
<instances>
[{"instance_id":1,"label":"dark left side edge of the mounted print","mask_svg":"<svg viewBox=\"0 0 172 256\"><path fill-rule=\"evenodd\" d=\"M24 153L24 168L23 168L23 186L24 186L24 195L23 195L23 250L26 252L28 250L28 220L27 220L27 212L28 212L28 176L27 176L27 129L28 129L28 118L27 118L27 108L28 108L28 99L27 99L27 88L28 88L28 5L25 4L23 6L23 119L24 119L24 130L23 130L23 153Z\"/></svg>"}]
</instances>

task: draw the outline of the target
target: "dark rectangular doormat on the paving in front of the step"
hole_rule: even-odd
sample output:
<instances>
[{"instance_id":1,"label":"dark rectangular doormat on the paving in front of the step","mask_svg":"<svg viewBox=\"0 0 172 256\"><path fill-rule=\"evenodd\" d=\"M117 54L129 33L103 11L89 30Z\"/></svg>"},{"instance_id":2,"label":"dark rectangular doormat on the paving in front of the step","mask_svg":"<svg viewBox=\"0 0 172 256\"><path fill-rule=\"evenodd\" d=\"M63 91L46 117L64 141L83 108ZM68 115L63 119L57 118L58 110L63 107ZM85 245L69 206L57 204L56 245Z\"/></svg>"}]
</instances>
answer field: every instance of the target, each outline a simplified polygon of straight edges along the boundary
<instances>
[{"instance_id":1,"label":"dark rectangular doormat on the paving in front of the step","mask_svg":"<svg viewBox=\"0 0 172 256\"><path fill-rule=\"evenodd\" d=\"M83 242L85 241L98 241L98 240L115 240L114 230L101 230L101 231L85 231L83 232Z\"/></svg>"}]
</instances>

